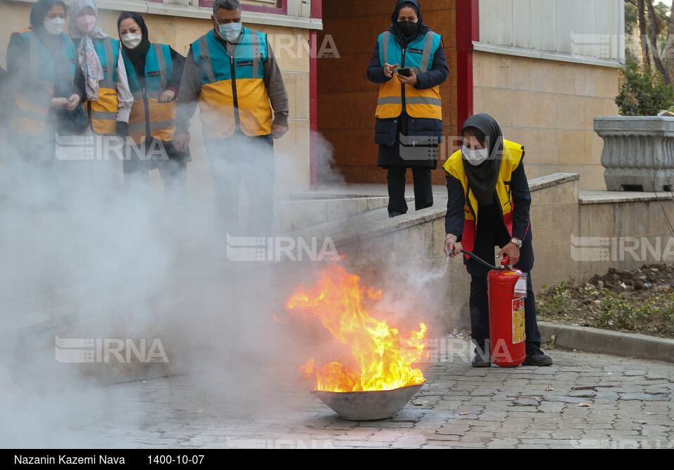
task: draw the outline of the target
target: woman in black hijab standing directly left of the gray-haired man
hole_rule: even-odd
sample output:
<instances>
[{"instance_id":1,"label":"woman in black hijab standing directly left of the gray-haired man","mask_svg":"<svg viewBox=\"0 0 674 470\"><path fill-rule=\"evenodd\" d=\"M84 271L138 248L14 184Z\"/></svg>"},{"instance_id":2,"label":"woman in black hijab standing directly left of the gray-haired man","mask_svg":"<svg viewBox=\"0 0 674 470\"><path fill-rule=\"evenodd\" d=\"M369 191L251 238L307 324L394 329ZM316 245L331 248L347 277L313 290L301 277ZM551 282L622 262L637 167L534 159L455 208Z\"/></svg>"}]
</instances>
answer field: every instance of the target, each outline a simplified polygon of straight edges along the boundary
<instances>
[{"instance_id":1,"label":"woman in black hijab standing directly left of the gray-haired man","mask_svg":"<svg viewBox=\"0 0 674 470\"><path fill-rule=\"evenodd\" d=\"M138 13L121 13L117 31L134 98L128 119L129 137L136 146L143 144L147 151L152 151L152 158L145 161L133 154L130 160L124 161L126 187L131 193L142 192L149 170L158 168L166 199L172 204L184 203L187 162L192 158L189 152L176 150L173 135L176 131L176 98L185 58L170 46L151 43L145 20ZM155 154L160 158L155 159Z\"/></svg>"}]
</instances>

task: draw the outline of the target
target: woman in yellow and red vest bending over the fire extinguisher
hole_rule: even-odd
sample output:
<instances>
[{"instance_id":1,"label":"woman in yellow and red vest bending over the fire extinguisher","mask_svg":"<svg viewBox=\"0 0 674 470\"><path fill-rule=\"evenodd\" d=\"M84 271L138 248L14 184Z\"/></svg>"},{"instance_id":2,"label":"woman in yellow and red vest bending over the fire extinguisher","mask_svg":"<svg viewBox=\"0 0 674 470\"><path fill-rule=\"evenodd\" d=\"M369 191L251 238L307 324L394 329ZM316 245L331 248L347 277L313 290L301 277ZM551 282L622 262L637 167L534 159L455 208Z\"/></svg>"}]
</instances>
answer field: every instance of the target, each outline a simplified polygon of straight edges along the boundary
<instances>
[{"instance_id":1,"label":"woman in yellow and red vest bending over the fire extinguisher","mask_svg":"<svg viewBox=\"0 0 674 470\"><path fill-rule=\"evenodd\" d=\"M444 251L454 257L463 249L482 260L507 254L510 264L527 275L524 329L527 357L524 365L551 365L541 352L541 334L536 323L536 300L531 284L534 248L531 246L529 207L531 194L524 173L524 147L503 139L498 123L488 114L468 118L461 128L463 147L447 160L447 237ZM463 262L471 276L470 323L476 355L473 367L489 367L489 269L473 257Z\"/></svg>"}]
</instances>

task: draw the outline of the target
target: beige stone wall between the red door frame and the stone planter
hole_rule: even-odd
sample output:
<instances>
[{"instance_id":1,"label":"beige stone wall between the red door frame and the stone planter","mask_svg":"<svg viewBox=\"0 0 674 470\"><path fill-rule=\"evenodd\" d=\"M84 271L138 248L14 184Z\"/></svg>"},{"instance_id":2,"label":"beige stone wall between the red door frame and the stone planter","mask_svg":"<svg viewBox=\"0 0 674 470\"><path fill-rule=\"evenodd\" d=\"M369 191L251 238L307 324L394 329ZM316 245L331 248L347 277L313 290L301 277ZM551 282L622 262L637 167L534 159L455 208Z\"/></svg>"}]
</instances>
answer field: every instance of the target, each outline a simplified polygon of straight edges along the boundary
<instances>
[{"instance_id":1,"label":"beige stone wall between the red door frame and the stone planter","mask_svg":"<svg viewBox=\"0 0 674 470\"><path fill-rule=\"evenodd\" d=\"M593 119L618 115L619 69L475 51L473 79L473 112L524 145L529 179L579 173L582 189L606 189Z\"/></svg>"}]
</instances>

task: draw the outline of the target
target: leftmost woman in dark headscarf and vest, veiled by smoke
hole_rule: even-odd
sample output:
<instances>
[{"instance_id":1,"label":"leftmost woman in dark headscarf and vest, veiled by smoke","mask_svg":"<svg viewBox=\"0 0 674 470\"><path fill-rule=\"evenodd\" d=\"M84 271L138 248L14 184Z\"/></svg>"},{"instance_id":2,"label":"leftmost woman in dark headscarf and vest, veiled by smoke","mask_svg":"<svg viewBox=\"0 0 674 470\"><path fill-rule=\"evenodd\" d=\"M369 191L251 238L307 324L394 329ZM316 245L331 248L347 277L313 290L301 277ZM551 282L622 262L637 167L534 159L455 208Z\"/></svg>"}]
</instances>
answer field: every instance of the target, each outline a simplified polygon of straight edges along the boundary
<instances>
[{"instance_id":1,"label":"leftmost woman in dark headscarf and vest, veiled by smoke","mask_svg":"<svg viewBox=\"0 0 674 470\"><path fill-rule=\"evenodd\" d=\"M60 206L62 191L53 174L55 133L77 133L86 126L79 109L84 76L75 69L75 50L62 33L66 6L39 0L30 12L30 27L11 35L7 48L8 88L14 103L9 142L22 156L25 174L20 205ZM73 81L75 83L73 83Z\"/></svg>"}]
</instances>

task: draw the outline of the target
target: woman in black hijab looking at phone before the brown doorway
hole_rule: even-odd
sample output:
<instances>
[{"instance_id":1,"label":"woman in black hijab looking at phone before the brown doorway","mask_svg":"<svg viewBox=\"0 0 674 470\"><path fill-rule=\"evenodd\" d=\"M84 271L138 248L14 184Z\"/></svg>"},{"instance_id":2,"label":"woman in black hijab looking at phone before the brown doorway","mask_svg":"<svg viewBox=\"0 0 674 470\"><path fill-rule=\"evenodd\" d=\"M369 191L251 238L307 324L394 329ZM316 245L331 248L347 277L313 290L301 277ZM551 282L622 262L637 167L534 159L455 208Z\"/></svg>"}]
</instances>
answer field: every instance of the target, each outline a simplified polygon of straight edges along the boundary
<instances>
[{"instance_id":1,"label":"woman in black hijab looking at phone before the brown doorway","mask_svg":"<svg viewBox=\"0 0 674 470\"><path fill-rule=\"evenodd\" d=\"M380 85L375 143L377 165L388 170L389 217L407 213L407 168L416 210L433 205L431 171L442 142L440 84L448 75L442 37L423 23L418 1L399 0L367 67L368 79Z\"/></svg>"}]
</instances>

